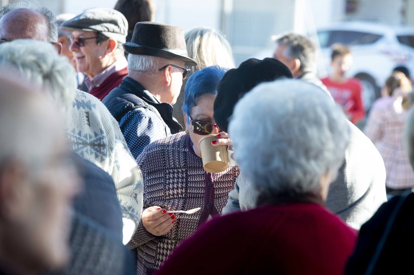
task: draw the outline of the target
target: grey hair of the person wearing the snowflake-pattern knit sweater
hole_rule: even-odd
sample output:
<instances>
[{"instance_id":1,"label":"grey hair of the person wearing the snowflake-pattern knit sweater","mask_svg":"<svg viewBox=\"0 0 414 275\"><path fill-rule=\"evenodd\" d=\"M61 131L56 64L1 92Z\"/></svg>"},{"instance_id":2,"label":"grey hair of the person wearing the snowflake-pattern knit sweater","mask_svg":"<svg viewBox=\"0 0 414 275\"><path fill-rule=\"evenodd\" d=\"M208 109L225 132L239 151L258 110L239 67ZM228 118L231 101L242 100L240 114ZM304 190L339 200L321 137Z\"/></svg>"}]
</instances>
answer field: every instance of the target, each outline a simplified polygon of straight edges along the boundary
<instances>
[{"instance_id":1,"label":"grey hair of the person wearing the snowflake-pattern knit sweater","mask_svg":"<svg viewBox=\"0 0 414 275\"><path fill-rule=\"evenodd\" d=\"M29 83L48 92L63 112L75 98L75 69L50 43L31 39L2 43L0 66L17 69Z\"/></svg>"}]
</instances>

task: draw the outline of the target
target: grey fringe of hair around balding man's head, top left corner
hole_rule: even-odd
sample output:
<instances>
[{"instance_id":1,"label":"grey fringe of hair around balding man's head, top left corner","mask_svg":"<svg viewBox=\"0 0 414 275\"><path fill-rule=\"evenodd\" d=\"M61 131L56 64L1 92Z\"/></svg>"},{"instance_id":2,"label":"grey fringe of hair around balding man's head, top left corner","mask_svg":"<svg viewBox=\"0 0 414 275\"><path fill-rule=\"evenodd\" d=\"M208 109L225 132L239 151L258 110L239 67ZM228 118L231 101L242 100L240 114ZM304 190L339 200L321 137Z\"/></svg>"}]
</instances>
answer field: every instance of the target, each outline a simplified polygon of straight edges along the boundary
<instances>
[{"instance_id":1,"label":"grey fringe of hair around balding man's head, top left corner","mask_svg":"<svg viewBox=\"0 0 414 275\"><path fill-rule=\"evenodd\" d=\"M49 26L48 41L52 43L58 42L58 25L56 24L55 16L48 8L43 7L36 1L25 0L25 1L15 2L9 5L5 5L0 9L0 19L7 12L10 12L13 9L19 9L19 8L32 9L42 14L48 21L48 26Z\"/></svg>"}]
</instances>

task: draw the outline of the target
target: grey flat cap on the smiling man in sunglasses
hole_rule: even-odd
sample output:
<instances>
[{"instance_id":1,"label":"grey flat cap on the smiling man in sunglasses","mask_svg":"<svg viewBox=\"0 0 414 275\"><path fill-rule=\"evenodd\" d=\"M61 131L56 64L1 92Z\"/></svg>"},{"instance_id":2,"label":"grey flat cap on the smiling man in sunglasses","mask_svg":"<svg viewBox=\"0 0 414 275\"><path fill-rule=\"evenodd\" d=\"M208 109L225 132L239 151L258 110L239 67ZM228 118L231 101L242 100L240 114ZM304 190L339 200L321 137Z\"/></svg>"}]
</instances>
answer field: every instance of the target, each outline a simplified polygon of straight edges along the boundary
<instances>
[{"instance_id":1,"label":"grey flat cap on the smiling man in sunglasses","mask_svg":"<svg viewBox=\"0 0 414 275\"><path fill-rule=\"evenodd\" d=\"M128 34L128 21L122 13L115 9L87 9L63 22L60 29L100 32L120 43L125 43Z\"/></svg>"}]
</instances>

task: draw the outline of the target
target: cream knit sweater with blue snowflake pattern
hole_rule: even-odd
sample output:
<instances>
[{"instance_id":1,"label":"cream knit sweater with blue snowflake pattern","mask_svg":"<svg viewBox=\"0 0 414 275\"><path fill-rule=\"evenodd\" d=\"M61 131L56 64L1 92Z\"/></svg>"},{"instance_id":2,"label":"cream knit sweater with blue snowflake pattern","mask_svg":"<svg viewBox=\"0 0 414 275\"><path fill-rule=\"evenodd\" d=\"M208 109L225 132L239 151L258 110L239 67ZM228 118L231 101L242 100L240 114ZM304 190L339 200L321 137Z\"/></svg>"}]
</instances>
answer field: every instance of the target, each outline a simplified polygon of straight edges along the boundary
<instances>
[{"instance_id":1,"label":"cream knit sweater with blue snowflake pattern","mask_svg":"<svg viewBox=\"0 0 414 275\"><path fill-rule=\"evenodd\" d=\"M141 219L143 182L118 122L99 99L76 90L63 128L72 152L113 178L123 216L123 242L127 243Z\"/></svg>"}]
</instances>

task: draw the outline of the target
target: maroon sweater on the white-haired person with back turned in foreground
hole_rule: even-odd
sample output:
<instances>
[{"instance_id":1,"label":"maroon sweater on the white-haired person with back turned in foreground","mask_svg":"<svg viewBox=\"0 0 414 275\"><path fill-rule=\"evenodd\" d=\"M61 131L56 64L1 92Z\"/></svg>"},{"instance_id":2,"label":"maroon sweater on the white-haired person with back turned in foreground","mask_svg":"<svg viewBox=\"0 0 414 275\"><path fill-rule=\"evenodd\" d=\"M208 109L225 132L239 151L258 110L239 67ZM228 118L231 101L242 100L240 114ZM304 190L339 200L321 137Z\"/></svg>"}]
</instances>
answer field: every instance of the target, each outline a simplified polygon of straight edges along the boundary
<instances>
[{"instance_id":1,"label":"maroon sweater on the white-haired person with back turned in foreground","mask_svg":"<svg viewBox=\"0 0 414 275\"><path fill-rule=\"evenodd\" d=\"M318 204L263 206L213 218L156 274L342 275L355 242L356 231Z\"/></svg>"}]
</instances>

